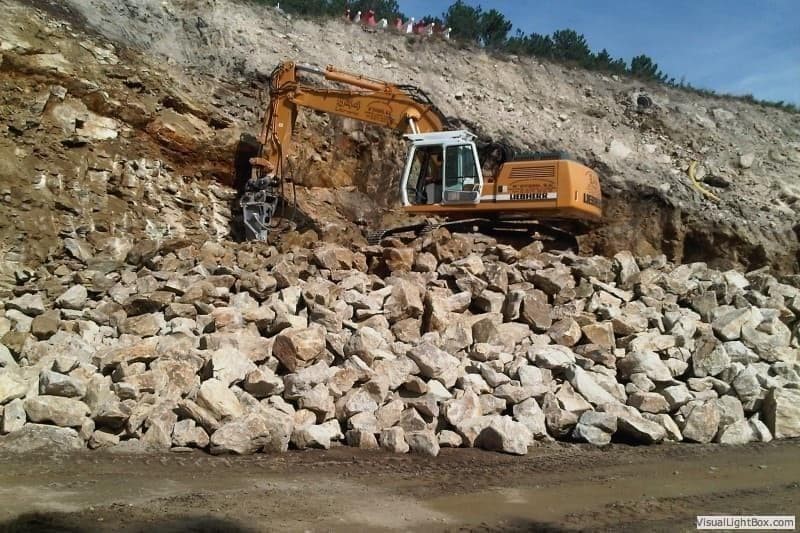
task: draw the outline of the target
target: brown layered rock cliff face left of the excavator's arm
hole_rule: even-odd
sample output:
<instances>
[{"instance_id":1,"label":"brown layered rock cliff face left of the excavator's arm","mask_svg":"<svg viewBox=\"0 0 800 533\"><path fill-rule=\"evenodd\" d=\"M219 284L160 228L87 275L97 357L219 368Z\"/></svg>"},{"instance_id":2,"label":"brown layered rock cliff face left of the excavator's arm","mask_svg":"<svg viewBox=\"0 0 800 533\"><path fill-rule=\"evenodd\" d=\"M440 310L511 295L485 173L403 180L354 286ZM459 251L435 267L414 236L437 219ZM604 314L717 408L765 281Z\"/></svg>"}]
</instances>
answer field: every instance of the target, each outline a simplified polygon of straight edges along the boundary
<instances>
[{"instance_id":1,"label":"brown layered rock cliff face left of the excavator's arm","mask_svg":"<svg viewBox=\"0 0 800 533\"><path fill-rule=\"evenodd\" d=\"M180 84L111 43L29 7L3 9L6 263L86 259L85 243L113 250L120 236L228 235L234 194L213 177L231 175L239 135L232 117L199 107Z\"/></svg>"}]
</instances>

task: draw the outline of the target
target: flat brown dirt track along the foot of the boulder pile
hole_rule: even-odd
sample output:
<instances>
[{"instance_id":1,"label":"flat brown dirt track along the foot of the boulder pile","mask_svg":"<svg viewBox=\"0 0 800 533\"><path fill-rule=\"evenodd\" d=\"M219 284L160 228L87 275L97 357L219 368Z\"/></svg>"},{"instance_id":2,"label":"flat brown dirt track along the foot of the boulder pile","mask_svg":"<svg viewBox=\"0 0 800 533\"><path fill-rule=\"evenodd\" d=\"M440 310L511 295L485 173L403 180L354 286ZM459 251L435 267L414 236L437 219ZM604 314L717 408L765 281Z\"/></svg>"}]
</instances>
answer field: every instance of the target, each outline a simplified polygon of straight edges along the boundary
<instances>
[{"instance_id":1,"label":"flat brown dirt track along the foot of the boulder pile","mask_svg":"<svg viewBox=\"0 0 800 533\"><path fill-rule=\"evenodd\" d=\"M6 456L0 531L693 531L698 514L800 514L798 459L797 440Z\"/></svg>"}]
</instances>

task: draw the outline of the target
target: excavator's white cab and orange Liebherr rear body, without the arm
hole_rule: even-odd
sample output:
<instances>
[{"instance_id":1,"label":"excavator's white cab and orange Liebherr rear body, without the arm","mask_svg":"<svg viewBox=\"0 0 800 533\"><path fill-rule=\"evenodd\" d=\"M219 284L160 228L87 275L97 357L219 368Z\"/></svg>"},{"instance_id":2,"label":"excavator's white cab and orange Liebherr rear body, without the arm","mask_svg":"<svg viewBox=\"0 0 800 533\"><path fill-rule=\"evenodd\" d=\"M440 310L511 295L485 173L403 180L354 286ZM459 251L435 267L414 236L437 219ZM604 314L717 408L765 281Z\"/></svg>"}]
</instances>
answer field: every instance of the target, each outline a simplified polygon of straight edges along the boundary
<instances>
[{"instance_id":1,"label":"excavator's white cab and orange Liebherr rear body, without the arm","mask_svg":"<svg viewBox=\"0 0 800 533\"><path fill-rule=\"evenodd\" d=\"M466 130L404 137L411 143L400 180L406 213L462 221L602 216L597 174L568 154L505 151L481 161L476 137Z\"/></svg>"}]
</instances>

